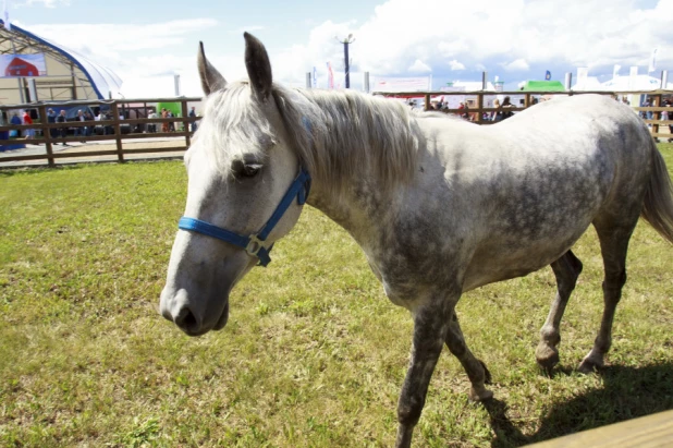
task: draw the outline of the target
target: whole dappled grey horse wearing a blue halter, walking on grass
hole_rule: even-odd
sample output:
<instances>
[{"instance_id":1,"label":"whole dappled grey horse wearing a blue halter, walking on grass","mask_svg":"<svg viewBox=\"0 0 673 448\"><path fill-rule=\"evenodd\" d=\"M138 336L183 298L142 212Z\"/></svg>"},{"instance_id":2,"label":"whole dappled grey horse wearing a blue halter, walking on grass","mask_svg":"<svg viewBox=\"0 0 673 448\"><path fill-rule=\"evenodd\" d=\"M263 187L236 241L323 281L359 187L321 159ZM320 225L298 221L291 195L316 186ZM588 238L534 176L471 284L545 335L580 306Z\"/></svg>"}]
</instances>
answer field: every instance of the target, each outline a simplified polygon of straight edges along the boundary
<instances>
[{"instance_id":1,"label":"whole dappled grey horse wearing a blue halter, walking on grass","mask_svg":"<svg viewBox=\"0 0 673 448\"><path fill-rule=\"evenodd\" d=\"M397 407L396 445L406 447L444 344L472 382L469 397L492 396L456 317L463 292L551 265L558 292L536 358L548 370L559 362L559 325L582 271L571 247L594 225L604 311L579 371L603 365L638 218L673 242L671 180L628 107L574 96L478 126L351 90L285 88L272 82L264 45L244 37L249 81L228 83L203 45L198 52L206 108L185 155L166 318L191 336L223 328L230 291L269 262L307 201L357 241L386 294L412 314Z\"/></svg>"}]
</instances>

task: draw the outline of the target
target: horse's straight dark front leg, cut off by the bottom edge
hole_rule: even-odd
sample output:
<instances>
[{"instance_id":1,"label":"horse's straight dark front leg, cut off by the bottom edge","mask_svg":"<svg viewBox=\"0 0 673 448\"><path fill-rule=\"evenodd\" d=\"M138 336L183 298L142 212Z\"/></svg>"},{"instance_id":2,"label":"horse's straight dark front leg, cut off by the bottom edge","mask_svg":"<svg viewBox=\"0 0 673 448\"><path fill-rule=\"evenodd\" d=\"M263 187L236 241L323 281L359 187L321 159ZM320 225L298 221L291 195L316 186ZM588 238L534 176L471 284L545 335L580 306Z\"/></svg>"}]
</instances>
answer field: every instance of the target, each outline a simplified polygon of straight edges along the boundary
<instances>
[{"instance_id":1,"label":"horse's straight dark front leg, cut off by the bottom edge","mask_svg":"<svg viewBox=\"0 0 673 448\"><path fill-rule=\"evenodd\" d=\"M412 445L412 434L420 419L428 385L442 352L453 305L448 301L437 301L414 312L412 356L397 402L397 448Z\"/></svg>"}]
</instances>

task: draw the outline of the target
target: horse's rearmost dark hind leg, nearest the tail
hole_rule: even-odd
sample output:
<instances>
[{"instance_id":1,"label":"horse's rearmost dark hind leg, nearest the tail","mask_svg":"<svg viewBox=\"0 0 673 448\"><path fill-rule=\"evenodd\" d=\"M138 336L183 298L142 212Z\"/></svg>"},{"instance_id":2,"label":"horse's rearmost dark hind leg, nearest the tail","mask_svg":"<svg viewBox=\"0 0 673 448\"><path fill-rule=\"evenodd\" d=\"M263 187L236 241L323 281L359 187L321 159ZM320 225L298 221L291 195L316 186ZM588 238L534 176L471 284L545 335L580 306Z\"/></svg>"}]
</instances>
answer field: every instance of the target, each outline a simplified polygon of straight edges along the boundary
<instances>
[{"instance_id":1,"label":"horse's rearmost dark hind leg, nearest the tail","mask_svg":"<svg viewBox=\"0 0 673 448\"><path fill-rule=\"evenodd\" d=\"M604 307L594 348L579 364L579 372L590 373L595 368L602 367L603 356L612 346L612 322L616 305L622 298L622 288L626 283L626 252L636 222L637 215L631 226L611 228L599 221L594 222L600 241L605 271L603 280Z\"/></svg>"}]
</instances>

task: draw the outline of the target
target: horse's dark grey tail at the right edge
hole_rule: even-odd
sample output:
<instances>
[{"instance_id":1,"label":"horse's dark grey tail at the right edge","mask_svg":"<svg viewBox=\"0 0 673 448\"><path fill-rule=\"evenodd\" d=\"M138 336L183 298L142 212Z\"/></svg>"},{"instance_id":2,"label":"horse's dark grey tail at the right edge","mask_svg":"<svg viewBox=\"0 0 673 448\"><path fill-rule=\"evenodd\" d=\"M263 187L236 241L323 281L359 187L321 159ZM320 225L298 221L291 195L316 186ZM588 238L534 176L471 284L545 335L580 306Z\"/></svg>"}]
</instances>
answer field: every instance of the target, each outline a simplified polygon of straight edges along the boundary
<instances>
[{"instance_id":1,"label":"horse's dark grey tail at the right edge","mask_svg":"<svg viewBox=\"0 0 673 448\"><path fill-rule=\"evenodd\" d=\"M651 140L652 174L640 216L663 238L673 243L673 183L659 148Z\"/></svg>"}]
</instances>

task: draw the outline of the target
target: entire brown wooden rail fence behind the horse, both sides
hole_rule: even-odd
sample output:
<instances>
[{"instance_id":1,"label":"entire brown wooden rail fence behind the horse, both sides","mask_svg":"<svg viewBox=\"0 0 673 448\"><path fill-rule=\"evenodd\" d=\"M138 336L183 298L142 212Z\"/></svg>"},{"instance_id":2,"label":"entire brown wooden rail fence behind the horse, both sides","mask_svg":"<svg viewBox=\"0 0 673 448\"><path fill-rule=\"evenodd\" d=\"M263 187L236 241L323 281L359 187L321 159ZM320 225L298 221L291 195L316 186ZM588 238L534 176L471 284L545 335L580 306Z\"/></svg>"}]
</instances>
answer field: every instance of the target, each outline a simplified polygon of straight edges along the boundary
<instances>
[{"instance_id":1,"label":"entire brown wooden rail fence behind the horse, both sides","mask_svg":"<svg viewBox=\"0 0 673 448\"><path fill-rule=\"evenodd\" d=\"M382 96L415 96L425 98L425 107L426 110L430 108L431 98L436 96L452 96L458 95L464 96L465 98L470 98L476 100L476 107L470 107L468 110L465 109L443 109L443 112L448 113L456 113L463 114L467 113L470 118L470 121L474 121L478 124L492 124L493 121L485 119L485 114L490 116L493 112L498 111L511 111L518 112L527 109L534 105L534 97L548 97L548 96L565 96L565 95L585 95L585 94L600 94L600 95L610 95L616 98L616 93L612 92L571 92L571 93L559 93L559 92L413 92L413 93L374 93L375 95ZM494 97L495 95L503 96L516 96L524 97L523 105L515 105L512 108L493 108L485 106L485 97ZM637 112L651 112L651 119L644 120L649 126L650 132L654 138L671 138L673 134L669 133L669 126L673 125L673 108L664 108L661 106L662 99L664 97L673 97L672 90L656 90L656 92L631 92L631 93L619 93L620 96L624 95L648 95L648 98L651 101L650 107L634 107L633 109ZM65 101L65 102L39 102L32 105L13 105L13 106L0 106L0 111L3 111L8 114L12 110L20 109L35 109L38 112L39 122L35 122L32 125L2 125L0 126L0 133L8 131L24 131L27 129L39 130L41 131L40 136L36 136L33 138L4 138L0 136L0 145L15 145L15 144L27 144L27 145L44 145L44 153L41 150L33 150L34 154L12 154L12 152L5 152L0 155L0 166L8 166L5 162L15 162L19 166L32 166L32 165L46 165L53 167L59 162L68 162L68 159L75 159L76 161L82 161L83 159L86 161L99 161L99 160L112 160L123 162L129 158L137 157L137 155L147 155L152 154L152 157L166 157L170 154L181 155L184 150L189 147L191 144L191 123L194 123L200 120L200 117L188 117L188 102L200 101L200 98L151 98L151 99L115 99L115 100L86 100L86 101ZM138 104L144 105L140 109L147 110L148 108L155 108L159 102L180 102L181 105L181 114L180 117L173 118L124 118L120 119L120 111L124 110L133 110L138 109ZM135 106L134 106L135 105ZM98 108L109 108L109 111L112 116L112 119L105 121L68 121L65 123L50 123L47 120L47 110L49 108L74 108L74 107L98 107ZM668 120L661 120L662 112L668 111L670 113ZM163 123L179 123L174 132L147 132L148 125L160 126ZM66 135L65 137L61 137L60 130L65 129L74 129L74 128L88 128L94 129L98 126L98 129L107 129L112 132L107 135ZM53 133L51 130L56 130ZM1 135L1 134L0 134ZM164 138L166 137L182 137L184 138L184 144L176 144L175 138L171 138L171 141L167 141L163 146L161 144L147 144L147 145L138 145L143 143L144 140L147 142L147 138ZM96 148L97 145L87 145L84 146L72 146L69 147L68 152L57 152L54 150L54 145L58 144L66 144L71 142L79 142L79 143L91 143L91 142L102 142L108 141L112 142L113 146L110 148L110 145L107 145L107 149ZM130 145L135 143L136 145ZM139 146L139 147L127 147L127 146ZM35 161L35 164L33 164ZM38 164L38 161L41 161Z\"/></svg>"}]
</instances>

